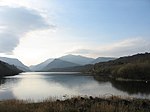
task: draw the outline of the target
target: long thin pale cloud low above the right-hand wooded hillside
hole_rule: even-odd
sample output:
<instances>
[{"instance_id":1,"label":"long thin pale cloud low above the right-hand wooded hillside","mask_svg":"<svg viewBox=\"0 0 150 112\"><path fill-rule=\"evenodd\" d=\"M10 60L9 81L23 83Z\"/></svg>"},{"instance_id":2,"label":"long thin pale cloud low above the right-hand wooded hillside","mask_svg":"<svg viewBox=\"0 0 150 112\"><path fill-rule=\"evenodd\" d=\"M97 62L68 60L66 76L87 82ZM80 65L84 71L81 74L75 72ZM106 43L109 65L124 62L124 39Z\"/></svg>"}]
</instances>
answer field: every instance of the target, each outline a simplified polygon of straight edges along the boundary
<instances>
[{"instance_id":1,"label":"long thin pale cloud low above the right-hand wooded hillside","mask_svg":"<svg viewBox=\"0 0 150 112\"><path fill-rule=\"evenodd\" d=\"M89 49L76 49L69 53L80 54L86 56L113 56L120 57L124 55L131 55L140 52L150 52L150 40L144 40L142 38L131 38L122 40L120 42L107 44L103 46L95 46L95 48Z\"/></svg>"}]
</instances>

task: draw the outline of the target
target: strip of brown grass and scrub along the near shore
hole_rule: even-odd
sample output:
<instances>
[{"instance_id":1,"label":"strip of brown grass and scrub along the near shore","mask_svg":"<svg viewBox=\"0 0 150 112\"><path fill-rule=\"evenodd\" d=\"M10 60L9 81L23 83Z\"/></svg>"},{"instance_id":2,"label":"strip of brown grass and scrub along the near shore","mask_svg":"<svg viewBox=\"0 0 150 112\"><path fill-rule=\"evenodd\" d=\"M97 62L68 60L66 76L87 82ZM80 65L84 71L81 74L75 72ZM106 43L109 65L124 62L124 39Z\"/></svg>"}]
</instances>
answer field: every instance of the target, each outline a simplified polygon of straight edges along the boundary
<instances>
[{"instance_id":1,"label":"strip of brown grass and scrub along the near shore","mask_svg":"<svg viewBox=\"0 0 150 112\"><path fill-rule=\"evenodd\" d=\"M150 112L150 100L119 98L76 97L64 101L8 100L0 102L0 112Z\"/></svg>"}]
</instances>

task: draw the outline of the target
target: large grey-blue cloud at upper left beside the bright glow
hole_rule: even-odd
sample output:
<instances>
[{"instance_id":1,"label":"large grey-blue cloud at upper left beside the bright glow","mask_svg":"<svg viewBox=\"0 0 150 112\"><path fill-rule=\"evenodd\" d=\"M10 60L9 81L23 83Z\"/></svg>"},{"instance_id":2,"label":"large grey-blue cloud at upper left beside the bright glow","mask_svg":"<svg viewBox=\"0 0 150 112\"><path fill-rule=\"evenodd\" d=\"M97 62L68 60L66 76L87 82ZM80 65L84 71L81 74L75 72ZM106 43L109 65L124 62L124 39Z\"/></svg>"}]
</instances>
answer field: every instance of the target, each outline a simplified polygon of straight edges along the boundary
<instances>
[{"instance_id":1,"label":"large grey-blue cloud at upper left beside the bright glow","mask_svg":"<svg viewBox=\"0 0 150 112\"><path fill-rule=\"evenodd\" d=\"M26 33L54 27L36 11L24 7L0 7L0 53L11 53Z\"/></svg>"}]
</instances>

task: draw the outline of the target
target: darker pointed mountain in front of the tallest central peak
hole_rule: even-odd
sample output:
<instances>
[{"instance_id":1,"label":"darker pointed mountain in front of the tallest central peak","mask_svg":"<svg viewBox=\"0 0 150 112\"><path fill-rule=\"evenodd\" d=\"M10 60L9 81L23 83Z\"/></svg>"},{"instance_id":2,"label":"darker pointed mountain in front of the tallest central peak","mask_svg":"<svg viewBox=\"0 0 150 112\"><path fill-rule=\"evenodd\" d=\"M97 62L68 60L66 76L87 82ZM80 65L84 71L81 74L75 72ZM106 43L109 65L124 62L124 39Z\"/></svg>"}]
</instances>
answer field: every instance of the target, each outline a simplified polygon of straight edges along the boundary
<instances>
[{"instance_id":1,"label":"darker pointed mountain in front of the tallest central peak","mask_svg":"<svg viewBox=\"0 0 150 112\"><path fill-rule=\"evenodd\" d=\"M54 59L42 71L49 71L54 68L66 68L66 67L74 67L74 66L79 66L79 65L72 62L60 60L60 59Z\"/></svg>"}]
</instances>

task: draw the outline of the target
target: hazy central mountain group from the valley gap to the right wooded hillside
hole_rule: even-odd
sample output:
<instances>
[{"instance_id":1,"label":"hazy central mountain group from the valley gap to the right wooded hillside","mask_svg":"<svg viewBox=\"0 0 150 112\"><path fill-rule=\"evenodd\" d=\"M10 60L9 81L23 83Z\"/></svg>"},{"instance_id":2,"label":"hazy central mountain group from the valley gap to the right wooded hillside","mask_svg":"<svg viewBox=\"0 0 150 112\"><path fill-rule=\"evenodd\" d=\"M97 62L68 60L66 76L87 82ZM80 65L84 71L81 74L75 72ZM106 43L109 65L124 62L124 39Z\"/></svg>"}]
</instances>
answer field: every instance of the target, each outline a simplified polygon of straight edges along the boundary
<instances>
[{"instance_id":1,"label":"hazy central mountain group from the valley gap to the right wooded hillside","mask_svg":"<svg viewBox=\"0 0 150 112\"><path fill-rule=\"evenodd\" d=\"M115 58L99 57L97 59L88 58L80 55L65 55L57 59L48 59L38 65L30 66L32 71L50 71L52 69L70 68L75 66L83 66L87 64L95 64L98 62L105 62Z\"/></svg>"}]
</instances>

